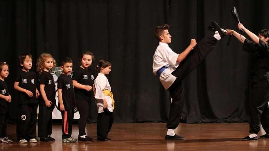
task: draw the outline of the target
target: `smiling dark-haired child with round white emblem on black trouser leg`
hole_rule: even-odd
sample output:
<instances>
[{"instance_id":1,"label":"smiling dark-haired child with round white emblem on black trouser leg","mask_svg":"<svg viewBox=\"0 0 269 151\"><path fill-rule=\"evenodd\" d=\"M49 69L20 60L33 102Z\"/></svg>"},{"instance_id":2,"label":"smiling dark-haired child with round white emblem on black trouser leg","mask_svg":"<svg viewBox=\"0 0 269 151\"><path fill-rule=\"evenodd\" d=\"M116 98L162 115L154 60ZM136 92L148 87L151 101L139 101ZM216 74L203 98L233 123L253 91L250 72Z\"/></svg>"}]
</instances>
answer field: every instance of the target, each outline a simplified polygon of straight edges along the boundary
<instances>
[{"instance_id":1,"label":"smiling dark-haired child with round white emblem on black trouser leg","mask_svg":"<svg viewBox=\"0 0 269 151\"><path fill-rule=\"evenodd\" d=\"M20 143L37 142L35 139L36 110L38 106L39 92L36 88L35 72L32 67L32 55L22 53L19 56L22 68L15 79L14 89L19 92L18 117L17 117L17 140Z\"/></svg>"}]
</instances>

